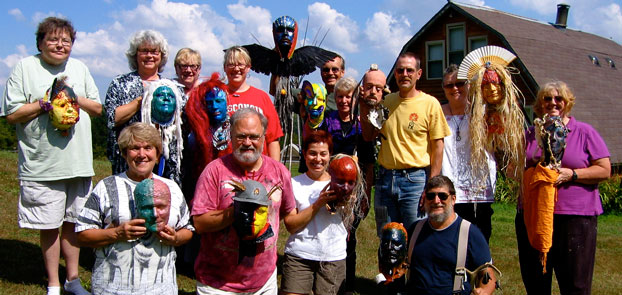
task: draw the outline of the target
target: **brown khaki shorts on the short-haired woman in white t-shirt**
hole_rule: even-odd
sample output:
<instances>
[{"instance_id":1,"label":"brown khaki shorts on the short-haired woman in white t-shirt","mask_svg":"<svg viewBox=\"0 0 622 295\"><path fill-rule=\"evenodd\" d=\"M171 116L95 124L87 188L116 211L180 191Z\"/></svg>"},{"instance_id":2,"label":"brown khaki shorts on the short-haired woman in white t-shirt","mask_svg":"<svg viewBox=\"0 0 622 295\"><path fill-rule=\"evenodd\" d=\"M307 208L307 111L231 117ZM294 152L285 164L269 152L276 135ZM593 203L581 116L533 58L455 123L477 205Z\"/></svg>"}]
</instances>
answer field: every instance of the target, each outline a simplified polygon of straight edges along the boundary
<instances>
[{"instance_id":1,"label":"brown khaki shorts on the short-haired woman in white t-shirt","mask_svg":"<svg viewBox=\"0 0 622 295\"><path fill-rule=\"evenodd\" d=\"M285 254L281 290L297 294L311 294L311 291L315 295L337 294L345 278L345 259L314 261Z\"/></svg>"}]
</instances>

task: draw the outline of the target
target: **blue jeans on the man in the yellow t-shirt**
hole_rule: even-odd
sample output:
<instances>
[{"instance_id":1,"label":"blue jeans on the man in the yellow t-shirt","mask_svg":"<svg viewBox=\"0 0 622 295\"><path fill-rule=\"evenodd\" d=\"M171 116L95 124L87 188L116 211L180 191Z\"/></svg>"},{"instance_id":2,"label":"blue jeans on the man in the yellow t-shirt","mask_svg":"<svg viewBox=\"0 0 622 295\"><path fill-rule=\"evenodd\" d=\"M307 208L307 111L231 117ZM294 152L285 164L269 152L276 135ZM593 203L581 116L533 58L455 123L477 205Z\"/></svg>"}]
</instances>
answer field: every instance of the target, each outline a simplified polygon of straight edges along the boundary
<instances>
[{"instance_id":1,"label":"blue jeans on the man in the yellow t-shirt","mask_svg":"<svg viewBox=\"0 0 622 295\"><path fill-rule=\"evenodd\" d=\"M424 217L418 209L426 180L425 168L388 170L379 167L374 198L378 236L389 222L400 222L409 230L415 221Z\"/></svg>"}]
</instances>

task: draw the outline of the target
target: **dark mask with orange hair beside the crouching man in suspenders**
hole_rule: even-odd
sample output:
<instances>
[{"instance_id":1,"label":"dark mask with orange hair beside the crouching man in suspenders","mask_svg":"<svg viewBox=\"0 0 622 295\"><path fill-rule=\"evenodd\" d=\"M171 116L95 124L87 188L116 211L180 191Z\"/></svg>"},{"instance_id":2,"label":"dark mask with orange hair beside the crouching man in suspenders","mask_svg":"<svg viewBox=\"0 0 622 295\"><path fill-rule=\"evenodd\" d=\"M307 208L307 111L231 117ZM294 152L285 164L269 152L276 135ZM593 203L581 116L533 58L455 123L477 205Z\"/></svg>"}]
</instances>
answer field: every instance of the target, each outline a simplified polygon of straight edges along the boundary
<instances>
[{"instance_id":1,"label":"dark mask with orange hair beside the crouching man in suspenders","mask_svg":"<svg viewBox=\"0 0 622 295\"><path fill-rule=\"evenodd\" d=\"M382 228L378 266L387 279L385 284L401 277L406 272L408 234L401 223L391 222Z\"/></svg>"}]
</instances>

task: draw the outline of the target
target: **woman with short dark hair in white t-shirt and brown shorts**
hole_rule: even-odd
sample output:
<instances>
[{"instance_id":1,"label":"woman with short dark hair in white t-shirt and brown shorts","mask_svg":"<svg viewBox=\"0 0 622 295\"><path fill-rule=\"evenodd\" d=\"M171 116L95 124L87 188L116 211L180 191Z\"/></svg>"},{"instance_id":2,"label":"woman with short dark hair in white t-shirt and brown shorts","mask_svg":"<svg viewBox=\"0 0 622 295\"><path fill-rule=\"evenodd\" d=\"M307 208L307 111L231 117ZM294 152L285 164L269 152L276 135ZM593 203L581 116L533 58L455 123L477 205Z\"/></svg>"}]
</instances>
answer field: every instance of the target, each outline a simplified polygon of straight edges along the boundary
<instances>
[{"instance_id":1,"label":"woman with short dark hair in white t-shirt and brown shorts","mask_svg":"<svg viewBox=\"0 0 622 295\"><path fill-rule=\"evenodd\" d=\"M345 279L347 231L340 214L326 203L336 195L328 190L327 172L333 142L319 130L305 137L302 151L309 170L292 178L298 219L285 244L281 290L284 294L337 294Z\"/></svg>"}]
</instances>

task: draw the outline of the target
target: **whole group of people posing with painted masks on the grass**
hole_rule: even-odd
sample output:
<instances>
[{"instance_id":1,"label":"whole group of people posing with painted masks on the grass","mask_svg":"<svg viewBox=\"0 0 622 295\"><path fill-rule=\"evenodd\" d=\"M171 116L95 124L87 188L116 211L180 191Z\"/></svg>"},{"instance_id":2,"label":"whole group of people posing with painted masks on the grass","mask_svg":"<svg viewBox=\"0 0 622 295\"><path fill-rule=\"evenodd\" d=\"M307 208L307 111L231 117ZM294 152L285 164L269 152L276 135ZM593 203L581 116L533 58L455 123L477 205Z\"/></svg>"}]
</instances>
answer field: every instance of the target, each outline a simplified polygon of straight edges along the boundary
<instances>
[{"instance_id":1,"label":"whole group of people posing with painted masks on the grass","mask_svg":"<svg viewBox=\"0 0 622 295\"><path fill-rule=\"evenodd\" d=\"M458 66L450 65L441 105L417 89L422 68L415 53L398 56L399 90L392 94L377 66L359 85L345 77L342 56L326 60L319 85L325 97L303 103L322 119L305 132L306 170L292 178L280 163L283 130L274 105L247 83L252 61L244 47L225 51L226 83L217 73L201 81L201 56L189 48L175 57L177 77L166 79L166 39L139 31L126 52L131 72L114 78L102 101L88 68L70 57L75 38L69 21L43 20L39 53L15 66L0 108L19 141L18 223L40 230L48 294L61 291L61 253L65 292L90 294L78 277L80 246L95 249L94 294L176 294L175 265L183 258L194 264L197 294L352 293L356 229L371 209L374 183L379 281L387 293L494 291L491 204L497 170L507 169L498 167L507 166L499 154L510 151L484 149L478 168L485 177L474 176L469 123L473 95L502 101L503 81L475 83L482 90L470 91L472 80L459 79ZM314 96L313 89L301 96ZM611 165L596 130L570 116L574 103L557 81L543 85L534 104L536 115L559 117L566 130L565 152L546 180L557 201L545 254L534 246L524 212L533 207L530 188L542 179L508 175L523 182L516 235L529 294L550 293L552 271L563 294L590 293L602 213L597 186ZM93 188L90 117L102 113L112 175ZM550 156L536 131L525 130L525 151L511 151L524 155L525 169ZM279 288L281 221L291 235ZM184 244L184 257L177 257ZM465 279L458 268L477 269L478 279Z\"/></svg>"}]
</instances>

